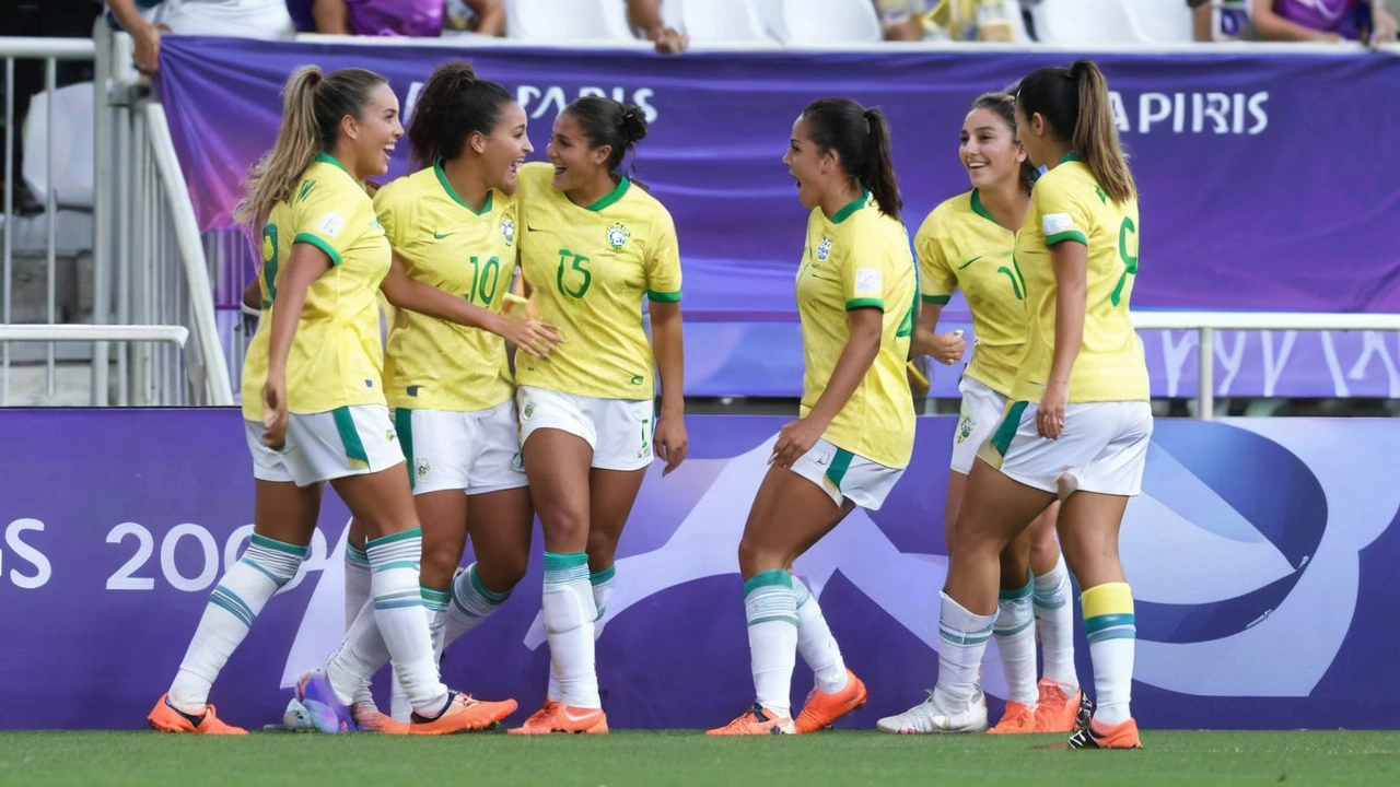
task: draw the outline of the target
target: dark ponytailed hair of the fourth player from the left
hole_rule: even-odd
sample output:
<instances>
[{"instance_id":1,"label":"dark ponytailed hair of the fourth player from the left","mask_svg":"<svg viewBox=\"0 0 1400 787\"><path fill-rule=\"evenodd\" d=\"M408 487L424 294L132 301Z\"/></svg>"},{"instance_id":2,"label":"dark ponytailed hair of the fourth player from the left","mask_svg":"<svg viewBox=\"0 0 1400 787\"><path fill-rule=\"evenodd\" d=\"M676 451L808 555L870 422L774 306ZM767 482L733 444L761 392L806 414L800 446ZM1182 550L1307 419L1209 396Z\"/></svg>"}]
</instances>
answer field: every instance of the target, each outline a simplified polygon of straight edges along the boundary
<instances>
[{"instance_id":1,"label":"dark ponytailed hair of the fourth player from the left","mask_svg":"<svg viewBox=\"0 0 1400 787\"><path fill-rule=\"evenodd\" d=\"M869 189L881 213L899 218L904 206L895 178L889 120L876 108L864 108L850 98L822 98L802 111L808 136L819 153L834 150L841 171Z\"/></svg>"}]
</instances>

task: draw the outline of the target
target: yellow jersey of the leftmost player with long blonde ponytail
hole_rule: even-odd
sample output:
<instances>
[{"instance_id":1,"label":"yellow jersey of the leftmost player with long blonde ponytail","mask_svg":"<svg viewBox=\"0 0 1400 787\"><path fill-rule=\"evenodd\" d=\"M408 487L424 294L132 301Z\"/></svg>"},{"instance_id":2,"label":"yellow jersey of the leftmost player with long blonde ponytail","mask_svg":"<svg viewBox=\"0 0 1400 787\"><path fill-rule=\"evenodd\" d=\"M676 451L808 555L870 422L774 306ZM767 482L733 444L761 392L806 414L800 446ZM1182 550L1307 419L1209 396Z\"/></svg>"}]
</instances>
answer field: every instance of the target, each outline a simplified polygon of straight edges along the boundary
<instances>
[{"instance_id":1,"label":"yellow jersey of the leftmost player with long blonde ponytail","mask_svg":"<svg viewBox=\"0 0 1400 787\"><path fill-rule=\"evenodd\" d=\"M244 417L263 416L272 312L281 266L295 244L326 252L332 267L307 288L287 356L287 410L307 415L384 405L378 294L392 252L364 183L322 153L291 197L273 206L262 230L263 315L244 357Z\"/></svg>"}]
</instances>

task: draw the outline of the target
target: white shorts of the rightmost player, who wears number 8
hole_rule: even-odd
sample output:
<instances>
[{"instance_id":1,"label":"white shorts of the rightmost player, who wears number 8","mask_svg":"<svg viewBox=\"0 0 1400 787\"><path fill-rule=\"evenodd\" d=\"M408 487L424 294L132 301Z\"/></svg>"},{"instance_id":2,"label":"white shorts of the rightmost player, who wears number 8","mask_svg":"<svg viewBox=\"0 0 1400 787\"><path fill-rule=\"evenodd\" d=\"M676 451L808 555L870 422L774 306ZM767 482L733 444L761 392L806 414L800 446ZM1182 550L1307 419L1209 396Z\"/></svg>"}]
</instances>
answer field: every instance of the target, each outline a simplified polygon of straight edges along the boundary
<instances>
[{"instance_id":1,"label":"white shorts of the rightmost player, who wears number 8","mask_svg":"<svg viewBox=\"0 0 1400 787\"><path fill-rule=\"evenodd\" d=\"M1133 496L1152 438L1147 402L1084 402L1064 409L1058 440L1036 430L1036 405L1012 402L979 457L1008 478L1061 499L1074 492Z\"/></svg>"}]
</instances>

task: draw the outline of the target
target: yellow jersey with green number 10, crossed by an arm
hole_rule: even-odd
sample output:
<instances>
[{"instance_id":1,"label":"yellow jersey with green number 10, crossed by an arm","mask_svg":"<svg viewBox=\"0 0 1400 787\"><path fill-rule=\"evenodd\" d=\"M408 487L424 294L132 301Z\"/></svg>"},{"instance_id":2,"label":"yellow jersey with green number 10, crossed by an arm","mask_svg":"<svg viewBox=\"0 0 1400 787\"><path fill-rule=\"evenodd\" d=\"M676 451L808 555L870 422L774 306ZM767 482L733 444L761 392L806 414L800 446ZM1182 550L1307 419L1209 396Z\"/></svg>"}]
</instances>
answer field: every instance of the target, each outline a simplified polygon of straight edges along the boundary
<instances>
[{"instance_id":1,"label":"yellow jersey with green number 10, crossed by an arm","mask_svg":"<svg viewBox=\"0 0 1400 787\"><path fill-rule=\"evenodd\" d=\"M466 206L440 164L379 189L374 209L409 276L500 314L515 273L515 200L489 192ZM514 394L505 340L409 309L396 309L384 354L393 408L486 410Z\"/></svg>"}]
</instances>

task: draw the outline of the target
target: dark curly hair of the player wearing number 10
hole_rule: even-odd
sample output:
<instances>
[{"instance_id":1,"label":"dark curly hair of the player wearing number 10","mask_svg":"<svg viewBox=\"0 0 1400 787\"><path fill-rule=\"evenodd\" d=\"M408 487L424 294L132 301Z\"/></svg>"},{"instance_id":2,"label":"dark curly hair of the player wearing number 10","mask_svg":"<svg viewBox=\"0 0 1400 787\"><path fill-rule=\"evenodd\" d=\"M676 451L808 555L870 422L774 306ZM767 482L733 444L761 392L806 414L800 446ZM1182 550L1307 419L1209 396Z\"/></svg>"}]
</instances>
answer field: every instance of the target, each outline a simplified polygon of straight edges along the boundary
<instances>
[{"instance_id":1,"label":"dark curly hair of the player wearing number 10","mask_svg":"<svg viewBox=\"0 0 1400 787\"><path fill-rule=\"evenodd\" d=\"M451 161L462 155L468 137L490 136L512 101L501 85L477 78L466 60L448 60L433 69L409 125L414 165L431 167L438 158Z\"/></svg>"}]
</instances>

